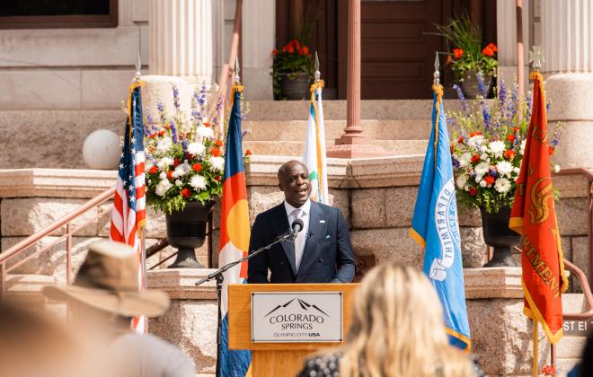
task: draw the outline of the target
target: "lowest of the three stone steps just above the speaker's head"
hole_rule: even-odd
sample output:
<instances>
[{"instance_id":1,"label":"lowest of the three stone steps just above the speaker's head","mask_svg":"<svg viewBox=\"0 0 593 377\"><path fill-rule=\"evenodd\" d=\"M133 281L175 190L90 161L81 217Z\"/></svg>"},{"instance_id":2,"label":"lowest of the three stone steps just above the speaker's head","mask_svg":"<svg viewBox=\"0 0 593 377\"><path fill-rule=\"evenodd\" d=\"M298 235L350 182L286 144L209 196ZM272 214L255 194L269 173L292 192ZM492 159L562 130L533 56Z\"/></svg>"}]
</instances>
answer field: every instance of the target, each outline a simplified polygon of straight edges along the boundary
<instances>
[{"instance_id":1,"label":"lowest of the three stone steps just above the speaker's head","mask_svg":"<svg viewBox=\"0 0 593 377\"><path fill-rule=\"evenodd\" d=\"M428 140L374 140L373 145L385 149L391 156L418 155L426 152ZM329 148L333 141L327 141ZM305 141L243 141L243 151L249 149L258 155L281 155L301 157L305 151Z\"/></svg>"}]
</instances>

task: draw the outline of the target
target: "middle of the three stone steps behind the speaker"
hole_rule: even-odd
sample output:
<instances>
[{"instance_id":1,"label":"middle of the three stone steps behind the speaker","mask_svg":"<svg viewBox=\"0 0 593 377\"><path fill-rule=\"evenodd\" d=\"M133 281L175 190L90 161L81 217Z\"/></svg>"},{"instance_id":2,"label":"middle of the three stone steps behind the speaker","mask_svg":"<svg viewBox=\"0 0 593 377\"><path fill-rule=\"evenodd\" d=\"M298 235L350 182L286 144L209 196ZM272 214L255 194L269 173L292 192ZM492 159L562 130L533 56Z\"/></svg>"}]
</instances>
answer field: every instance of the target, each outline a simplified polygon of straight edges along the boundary
<instances>
[{"instance_id":1,"label":"middle of the three stone steps behind the speaker","mask_svg":"<svg viewBox=\"0 0 593 377\"><path fill-rule=\"evenodd\" d=\"M245 141L304 141L307 120L248 120L243 122ZM423 140L430 136L430 119L364 119L360 126L369 139ZM325 120L325 139L343 134L346 120Z\"/></svg>"}]
</instances>

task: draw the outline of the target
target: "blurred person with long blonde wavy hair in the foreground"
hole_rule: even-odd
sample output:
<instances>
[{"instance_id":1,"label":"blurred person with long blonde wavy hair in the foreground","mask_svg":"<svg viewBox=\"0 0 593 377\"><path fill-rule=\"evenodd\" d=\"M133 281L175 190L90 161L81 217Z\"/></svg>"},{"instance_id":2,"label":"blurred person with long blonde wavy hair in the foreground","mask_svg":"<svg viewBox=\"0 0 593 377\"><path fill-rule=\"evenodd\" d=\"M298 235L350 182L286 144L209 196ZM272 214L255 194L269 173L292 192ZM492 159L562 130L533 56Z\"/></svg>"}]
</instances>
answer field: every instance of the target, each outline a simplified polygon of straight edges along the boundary
<instances>
[{"instance_id":1,"label":"blurred person with long blonde wavy hair in the foreground","mask_svg":"<svg viewBox=\"0 0 593 377\"><path fill-rule=\"evenodd\" d=\"M467 355L449 346L438 296L412 267L392 262L371 269L351 315L345 344L307 359L299 377L479 375Z\"/></svg>"}]
</instances>

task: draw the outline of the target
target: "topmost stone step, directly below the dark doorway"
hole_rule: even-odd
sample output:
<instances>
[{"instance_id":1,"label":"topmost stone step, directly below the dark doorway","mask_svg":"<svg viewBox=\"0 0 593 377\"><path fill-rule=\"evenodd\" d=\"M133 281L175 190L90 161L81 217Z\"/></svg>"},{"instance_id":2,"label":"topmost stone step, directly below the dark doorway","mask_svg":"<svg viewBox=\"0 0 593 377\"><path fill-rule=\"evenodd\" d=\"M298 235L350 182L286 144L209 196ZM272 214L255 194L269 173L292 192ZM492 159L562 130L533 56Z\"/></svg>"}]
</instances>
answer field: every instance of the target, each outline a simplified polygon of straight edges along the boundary
<instances>
[{"instance_id":1,"label":"topmost stone step, directly below the dark doorway","mask_svg":"<svg viewBox=\"0 0 593 377\"><path fill-rule=\"evenodd\" d=\"M250 120L306 119L309 101L247 101ZM446 110L459 110L458 100L445 100ZM361 119L429 119L432 100L363 100ZM345 119L346 101L323 101L324 119Z\"/></svg>"}]
</instances>

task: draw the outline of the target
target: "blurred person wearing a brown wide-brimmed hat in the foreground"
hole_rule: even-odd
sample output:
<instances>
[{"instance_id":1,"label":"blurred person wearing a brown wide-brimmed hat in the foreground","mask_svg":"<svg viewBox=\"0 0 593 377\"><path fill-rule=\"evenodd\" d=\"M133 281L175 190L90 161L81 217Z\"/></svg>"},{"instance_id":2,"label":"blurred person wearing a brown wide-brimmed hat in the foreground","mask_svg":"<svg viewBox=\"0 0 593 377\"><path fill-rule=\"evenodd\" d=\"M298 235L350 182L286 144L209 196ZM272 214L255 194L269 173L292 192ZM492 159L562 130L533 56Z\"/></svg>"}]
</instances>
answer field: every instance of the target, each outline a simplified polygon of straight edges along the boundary
<instances>
[{"instance_id":1,"label":"blurred person wearing a brown wide-brimmed hat in the foreground","mask_svg":"<svg viewBox=\"0 0 593 377\"><path fill-rule=\"evenodd\" d=\"M137 255L128 245L93 243L73 285L48 285L43 294L68 303L75 333L90 346L84 375L195 376L193 364L180 349L132 331L132 318L161 316L169 308L169 297L156 290L138 291Z\"/></svg>"}]
</instances>

